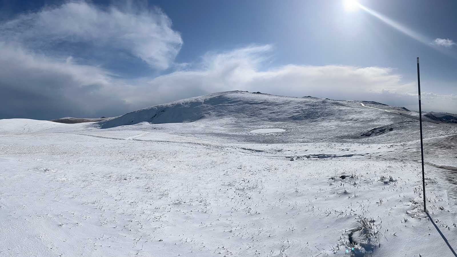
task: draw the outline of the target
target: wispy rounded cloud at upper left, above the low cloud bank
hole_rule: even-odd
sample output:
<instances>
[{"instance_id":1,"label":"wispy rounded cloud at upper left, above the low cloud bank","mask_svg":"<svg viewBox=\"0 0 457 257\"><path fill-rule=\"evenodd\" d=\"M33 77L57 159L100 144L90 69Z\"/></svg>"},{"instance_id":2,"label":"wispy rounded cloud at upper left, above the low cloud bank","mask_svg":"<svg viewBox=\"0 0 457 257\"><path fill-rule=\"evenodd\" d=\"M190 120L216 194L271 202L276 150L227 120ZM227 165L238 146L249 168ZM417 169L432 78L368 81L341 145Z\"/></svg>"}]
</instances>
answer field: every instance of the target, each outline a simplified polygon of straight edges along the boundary
<instances>
[{"instance_id":1,"label":"wispy rounded cloud at upper left, above the low cloud bank","mask_svg":"<svg viewBox=\"0 0 457 257\"><path fill-rule=\"evenodd\" d=\"M180 34L159 9L130 5L103 9L83 1L20 15L0 24L0 37L34 50L64 43L87 44L93 52L124 51L159 70L173 63L182 45Z\"/></svg>"}]
</instances>

